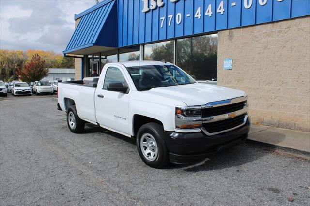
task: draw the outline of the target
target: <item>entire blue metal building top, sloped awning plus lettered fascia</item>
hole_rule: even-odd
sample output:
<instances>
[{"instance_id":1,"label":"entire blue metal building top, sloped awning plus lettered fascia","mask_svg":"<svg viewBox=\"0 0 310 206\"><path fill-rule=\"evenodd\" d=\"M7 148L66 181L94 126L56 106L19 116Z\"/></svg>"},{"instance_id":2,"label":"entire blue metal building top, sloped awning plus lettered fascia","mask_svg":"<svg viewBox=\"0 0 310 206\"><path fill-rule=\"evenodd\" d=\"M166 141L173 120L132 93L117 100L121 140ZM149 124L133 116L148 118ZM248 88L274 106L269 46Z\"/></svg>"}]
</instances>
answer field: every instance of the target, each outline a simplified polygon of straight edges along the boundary
<instances>
[{"instance_id":1,"label":"entire blue metal building top, sloped awning plus lettered fascia","mask_svg":"<svg viewBox=\"0 0 310 206\"><path fill-rule=\"evenodd\" d=\"M310 0L103 0L80 19L66 51L125 47L310 15Z\"/></svg>"}]
</instances>

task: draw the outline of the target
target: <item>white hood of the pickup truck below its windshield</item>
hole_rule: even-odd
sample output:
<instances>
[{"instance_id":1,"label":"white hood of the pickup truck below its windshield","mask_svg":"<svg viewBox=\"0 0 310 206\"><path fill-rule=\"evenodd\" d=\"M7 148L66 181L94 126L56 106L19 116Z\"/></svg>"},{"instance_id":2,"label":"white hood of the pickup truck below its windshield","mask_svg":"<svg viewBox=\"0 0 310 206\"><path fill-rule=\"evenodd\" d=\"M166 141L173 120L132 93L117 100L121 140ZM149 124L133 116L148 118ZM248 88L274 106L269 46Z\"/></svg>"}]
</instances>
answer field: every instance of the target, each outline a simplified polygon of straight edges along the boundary
<instances>
[{"instance_id":1,"label":"white hood of the pickup truck below its windshield","mask_svg":"<svg viewBox=\"0 0 310 206\"><path fill-rule=\"evenodd\" d=\"M203 83L152 88L143 92L182 101L187 106L204 105L247 95L241 90Z\"/></svg>"}]
</instances>

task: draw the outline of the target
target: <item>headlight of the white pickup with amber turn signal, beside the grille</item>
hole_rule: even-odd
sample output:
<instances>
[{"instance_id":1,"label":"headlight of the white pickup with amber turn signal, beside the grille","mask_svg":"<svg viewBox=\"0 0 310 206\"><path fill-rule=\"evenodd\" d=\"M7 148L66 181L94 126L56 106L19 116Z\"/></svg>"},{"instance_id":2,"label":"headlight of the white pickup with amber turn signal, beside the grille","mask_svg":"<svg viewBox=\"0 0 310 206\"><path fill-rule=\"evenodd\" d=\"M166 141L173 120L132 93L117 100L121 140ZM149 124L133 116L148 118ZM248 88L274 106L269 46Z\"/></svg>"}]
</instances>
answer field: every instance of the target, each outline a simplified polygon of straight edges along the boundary
<instances>
[{"instance_id":1,"label":"headlight of the white pickup with amber turn signal, beside the grille","mask_svg":"<svg viewBox=\"0 0 310 206\"><path fill-rule=\"evenodd\" d=\"M175 108L175 128L196 129L202 127L201 106L177 106Z\"/></svg>"}]
</instances>

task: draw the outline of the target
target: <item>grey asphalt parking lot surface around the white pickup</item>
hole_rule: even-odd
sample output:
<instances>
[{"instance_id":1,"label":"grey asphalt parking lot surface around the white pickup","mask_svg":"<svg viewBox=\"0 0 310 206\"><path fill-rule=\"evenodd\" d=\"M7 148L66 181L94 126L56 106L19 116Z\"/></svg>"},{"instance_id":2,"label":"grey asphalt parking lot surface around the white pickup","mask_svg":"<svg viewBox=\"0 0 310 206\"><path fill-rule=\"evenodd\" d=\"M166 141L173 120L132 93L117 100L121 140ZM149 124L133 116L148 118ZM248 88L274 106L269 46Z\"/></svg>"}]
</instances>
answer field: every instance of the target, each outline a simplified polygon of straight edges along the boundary
<instances>
[{"instance_id":1,"label":"grey asphalt parking lot surface around the white pickup","mask_svg":"<svg viewBox=\"0 0 310 206\"><path fill-rule=\"evenodd\" d=\"M307 159L245 143L205 162L154 169L128 137L92 125L70 132L56 103L0 99L0 205L310 204Z\"/></svg>"}]
</instances>

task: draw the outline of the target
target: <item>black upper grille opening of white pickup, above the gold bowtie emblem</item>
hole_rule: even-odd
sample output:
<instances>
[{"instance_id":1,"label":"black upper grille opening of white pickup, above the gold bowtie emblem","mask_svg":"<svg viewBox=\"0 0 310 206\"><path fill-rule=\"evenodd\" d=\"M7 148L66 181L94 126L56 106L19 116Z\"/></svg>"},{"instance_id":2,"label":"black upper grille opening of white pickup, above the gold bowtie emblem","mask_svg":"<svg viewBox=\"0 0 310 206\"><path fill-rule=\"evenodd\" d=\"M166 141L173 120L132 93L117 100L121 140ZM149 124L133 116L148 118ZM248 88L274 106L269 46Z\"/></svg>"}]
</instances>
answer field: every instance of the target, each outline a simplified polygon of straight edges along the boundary
<instances>
[{"instance_id":1,"label":"black upper grille opening of white pickup, above the gold bowtie emblem","mask_svg":"<svg viewBox=\"0 0 310 206\"><path fill-rule=\"evenodd\" d=\"M243 101L243 102L228 104L224 106L217 106L217 107L202 109L202 118L223 115L223 114L227 114L230 112L238 111L240 109L243 109L245 103L246 101Z\"/></svg>"}]
</instances>

